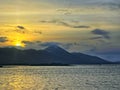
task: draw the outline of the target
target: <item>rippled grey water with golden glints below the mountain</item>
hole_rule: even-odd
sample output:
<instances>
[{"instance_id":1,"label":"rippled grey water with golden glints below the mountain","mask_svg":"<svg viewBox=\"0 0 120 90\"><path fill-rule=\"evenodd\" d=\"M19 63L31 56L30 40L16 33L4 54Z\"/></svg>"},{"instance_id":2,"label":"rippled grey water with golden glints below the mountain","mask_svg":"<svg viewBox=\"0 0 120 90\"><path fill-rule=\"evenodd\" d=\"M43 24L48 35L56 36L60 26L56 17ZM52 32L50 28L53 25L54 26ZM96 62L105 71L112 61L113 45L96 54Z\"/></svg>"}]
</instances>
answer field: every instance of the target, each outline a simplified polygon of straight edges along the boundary
<instances>
[{"instance_id":1,"label":"rippled grey water with golden glints below the mountain","mask_svg":"<svg viewBox=\"0 0 120 90\"><path fill-rule=\"evenodd\" d=\"M7 66L0 90L120 90L120 65Z\"/></svg>"}]
</instances>

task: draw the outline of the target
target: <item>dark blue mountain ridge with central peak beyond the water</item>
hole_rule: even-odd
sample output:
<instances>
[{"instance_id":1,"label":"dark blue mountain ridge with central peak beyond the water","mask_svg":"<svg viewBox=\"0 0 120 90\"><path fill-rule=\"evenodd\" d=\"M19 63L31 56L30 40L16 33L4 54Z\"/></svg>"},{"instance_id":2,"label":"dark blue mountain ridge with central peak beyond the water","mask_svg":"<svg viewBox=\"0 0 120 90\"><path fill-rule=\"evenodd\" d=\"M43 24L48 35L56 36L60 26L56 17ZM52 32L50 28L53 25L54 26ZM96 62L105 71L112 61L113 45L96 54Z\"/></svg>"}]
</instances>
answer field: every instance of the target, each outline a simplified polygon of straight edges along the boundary
<instances>
[{"instance_id":1,"label":"dark blue mountain ridge with central peak beyond the water","mask_svg":"<svg viewBox=\"0 0 120 90\"><path fill-rule=\"evenodd\" d=\"M110 64L99 57L82 53L69 53L59 46L52 45L44 50L19 50L0 48L0 64L41 65L41 64Z\"/></svg>"}]
</instances>

